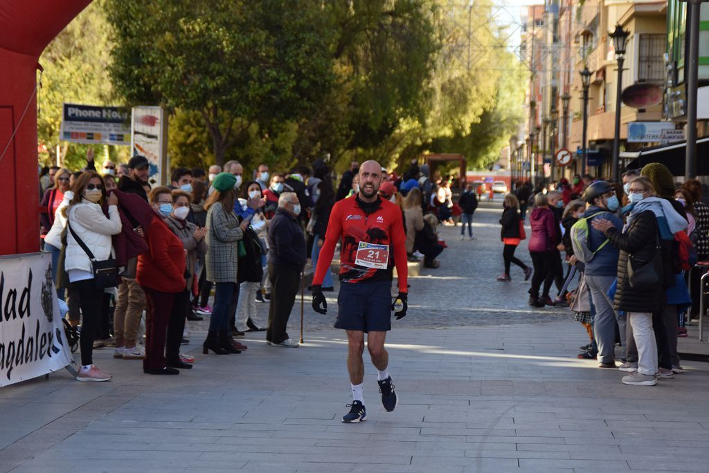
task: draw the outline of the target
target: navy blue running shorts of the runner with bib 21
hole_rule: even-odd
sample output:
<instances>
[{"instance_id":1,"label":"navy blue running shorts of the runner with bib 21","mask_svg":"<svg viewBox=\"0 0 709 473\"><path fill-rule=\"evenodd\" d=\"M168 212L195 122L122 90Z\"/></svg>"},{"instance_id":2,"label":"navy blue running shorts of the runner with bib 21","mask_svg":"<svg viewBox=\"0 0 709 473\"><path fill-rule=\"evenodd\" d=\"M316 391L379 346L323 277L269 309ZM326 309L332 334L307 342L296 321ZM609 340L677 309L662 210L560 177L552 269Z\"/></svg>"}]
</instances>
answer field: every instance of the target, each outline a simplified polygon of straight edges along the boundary
<instances>
[{"instance_id":1,"label":"navy blue running shorts of the runner with bib 21","mask_svg":"<svg viewBox=\"0 0 709 473\"><path fill-rule=\"evenodd\" d=\"M340 284L335 329L391 330L391 281Z\"/></svg>"}]
</instances>

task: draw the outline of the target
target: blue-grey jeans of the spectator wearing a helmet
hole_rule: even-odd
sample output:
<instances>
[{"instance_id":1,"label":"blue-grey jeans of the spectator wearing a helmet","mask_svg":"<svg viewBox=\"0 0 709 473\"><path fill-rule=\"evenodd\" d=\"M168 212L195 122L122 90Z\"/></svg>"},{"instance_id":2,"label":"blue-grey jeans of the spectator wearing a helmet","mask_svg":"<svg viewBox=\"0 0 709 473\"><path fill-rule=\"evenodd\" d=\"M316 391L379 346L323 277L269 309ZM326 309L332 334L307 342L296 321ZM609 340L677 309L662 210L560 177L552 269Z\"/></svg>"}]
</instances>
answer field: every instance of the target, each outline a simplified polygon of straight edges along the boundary
<instances>
[{"instance_id":1,"label":"blue-grey jeans of the spectator wearing a helmet","mask_svg":"<svg viewBox=\"0 0 709 473\"><path fill-rule=\"evenodd\" d=\"M620 329L620 343L625 347L625 318L618 317L613 309L613 301L608 297L608 289L615 276L591 276L586 274L586 284L591 292L596 318L593 320L593 334L598 345L598 362L613 363L615 360L615 326Z\"/></svg>"}]
</instances>

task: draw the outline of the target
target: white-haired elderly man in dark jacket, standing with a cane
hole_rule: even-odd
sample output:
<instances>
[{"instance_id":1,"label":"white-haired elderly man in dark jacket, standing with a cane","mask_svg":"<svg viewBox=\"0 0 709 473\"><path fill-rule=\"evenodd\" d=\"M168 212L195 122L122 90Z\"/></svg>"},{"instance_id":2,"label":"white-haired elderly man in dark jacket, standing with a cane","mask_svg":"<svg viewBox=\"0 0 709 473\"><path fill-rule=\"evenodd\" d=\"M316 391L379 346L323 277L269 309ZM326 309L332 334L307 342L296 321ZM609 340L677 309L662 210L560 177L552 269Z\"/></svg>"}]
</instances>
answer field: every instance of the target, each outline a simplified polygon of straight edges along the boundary
<instances>
[{"instance_id":1,"label":"white-haired elderly man in dark jacket, standing with a cane","mask_svg":"<svg viewBox=\"0 0 709 473\"><path fill-rule=\"evenodd\" d=\"M301 204L296 193L281 193L268 234L268 270L272 289L266 343L271 346L298 346L298 342L288 336L286 326L296 302L301 271L306 264L306 240L298 224L300 213Z\"/></svg>"}]
</instances>

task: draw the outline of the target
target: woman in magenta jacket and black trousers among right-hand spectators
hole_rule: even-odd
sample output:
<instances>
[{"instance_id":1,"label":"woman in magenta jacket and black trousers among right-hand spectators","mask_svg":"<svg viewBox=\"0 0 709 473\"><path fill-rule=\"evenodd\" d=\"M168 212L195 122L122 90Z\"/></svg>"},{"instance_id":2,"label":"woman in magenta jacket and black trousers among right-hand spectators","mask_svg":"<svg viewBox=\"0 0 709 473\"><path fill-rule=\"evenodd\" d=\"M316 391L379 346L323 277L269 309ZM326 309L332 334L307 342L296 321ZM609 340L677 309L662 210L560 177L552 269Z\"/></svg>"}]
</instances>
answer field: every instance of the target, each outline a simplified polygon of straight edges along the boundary
<instances>
[{"instance_id":1,"label":"woman in magenta jacket and black trousers among right-hand spectators","mask_svg":"<svg viewBox=\"0 0 709 473\"><path fill-rule=\"evenodd\" d=\"M530 226L532 235L530 236L529 250L534 266L532 275L532 287L530 288L529 303L532 307L544 307L554 305L549 297L549 289L554 282L554 256L555 247L558 244L557 224L554 213L549 209L549 201L545 193L537 193L534 198L535 209L530 215ZM539 297L539 289L542 288L542 297Z\"/></svg>"}]
</instances>

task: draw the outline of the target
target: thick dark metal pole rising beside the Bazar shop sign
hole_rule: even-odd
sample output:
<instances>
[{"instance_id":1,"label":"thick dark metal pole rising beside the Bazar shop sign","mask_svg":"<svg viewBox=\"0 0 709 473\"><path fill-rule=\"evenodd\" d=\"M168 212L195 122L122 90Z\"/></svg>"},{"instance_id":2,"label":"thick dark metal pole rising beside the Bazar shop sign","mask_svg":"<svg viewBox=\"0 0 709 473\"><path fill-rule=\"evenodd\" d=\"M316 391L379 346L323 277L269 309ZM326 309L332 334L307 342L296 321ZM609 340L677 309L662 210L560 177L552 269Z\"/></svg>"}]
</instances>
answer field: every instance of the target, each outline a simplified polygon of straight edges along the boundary
<instances>
[{"instance_id":1,"label":"thick dark metal pole rising beside the Bazar shop sign","mask_svg":"<svg viewBox=\"0 0 709 473\"><path fill-rule=\"evenodd\" d=\"M684 178L697 175L697 88L699 57L699 15L701 0L687 0L687 28L689 50L687 57L687 147L684 159Z\"/></svg>"}]
</instances>

